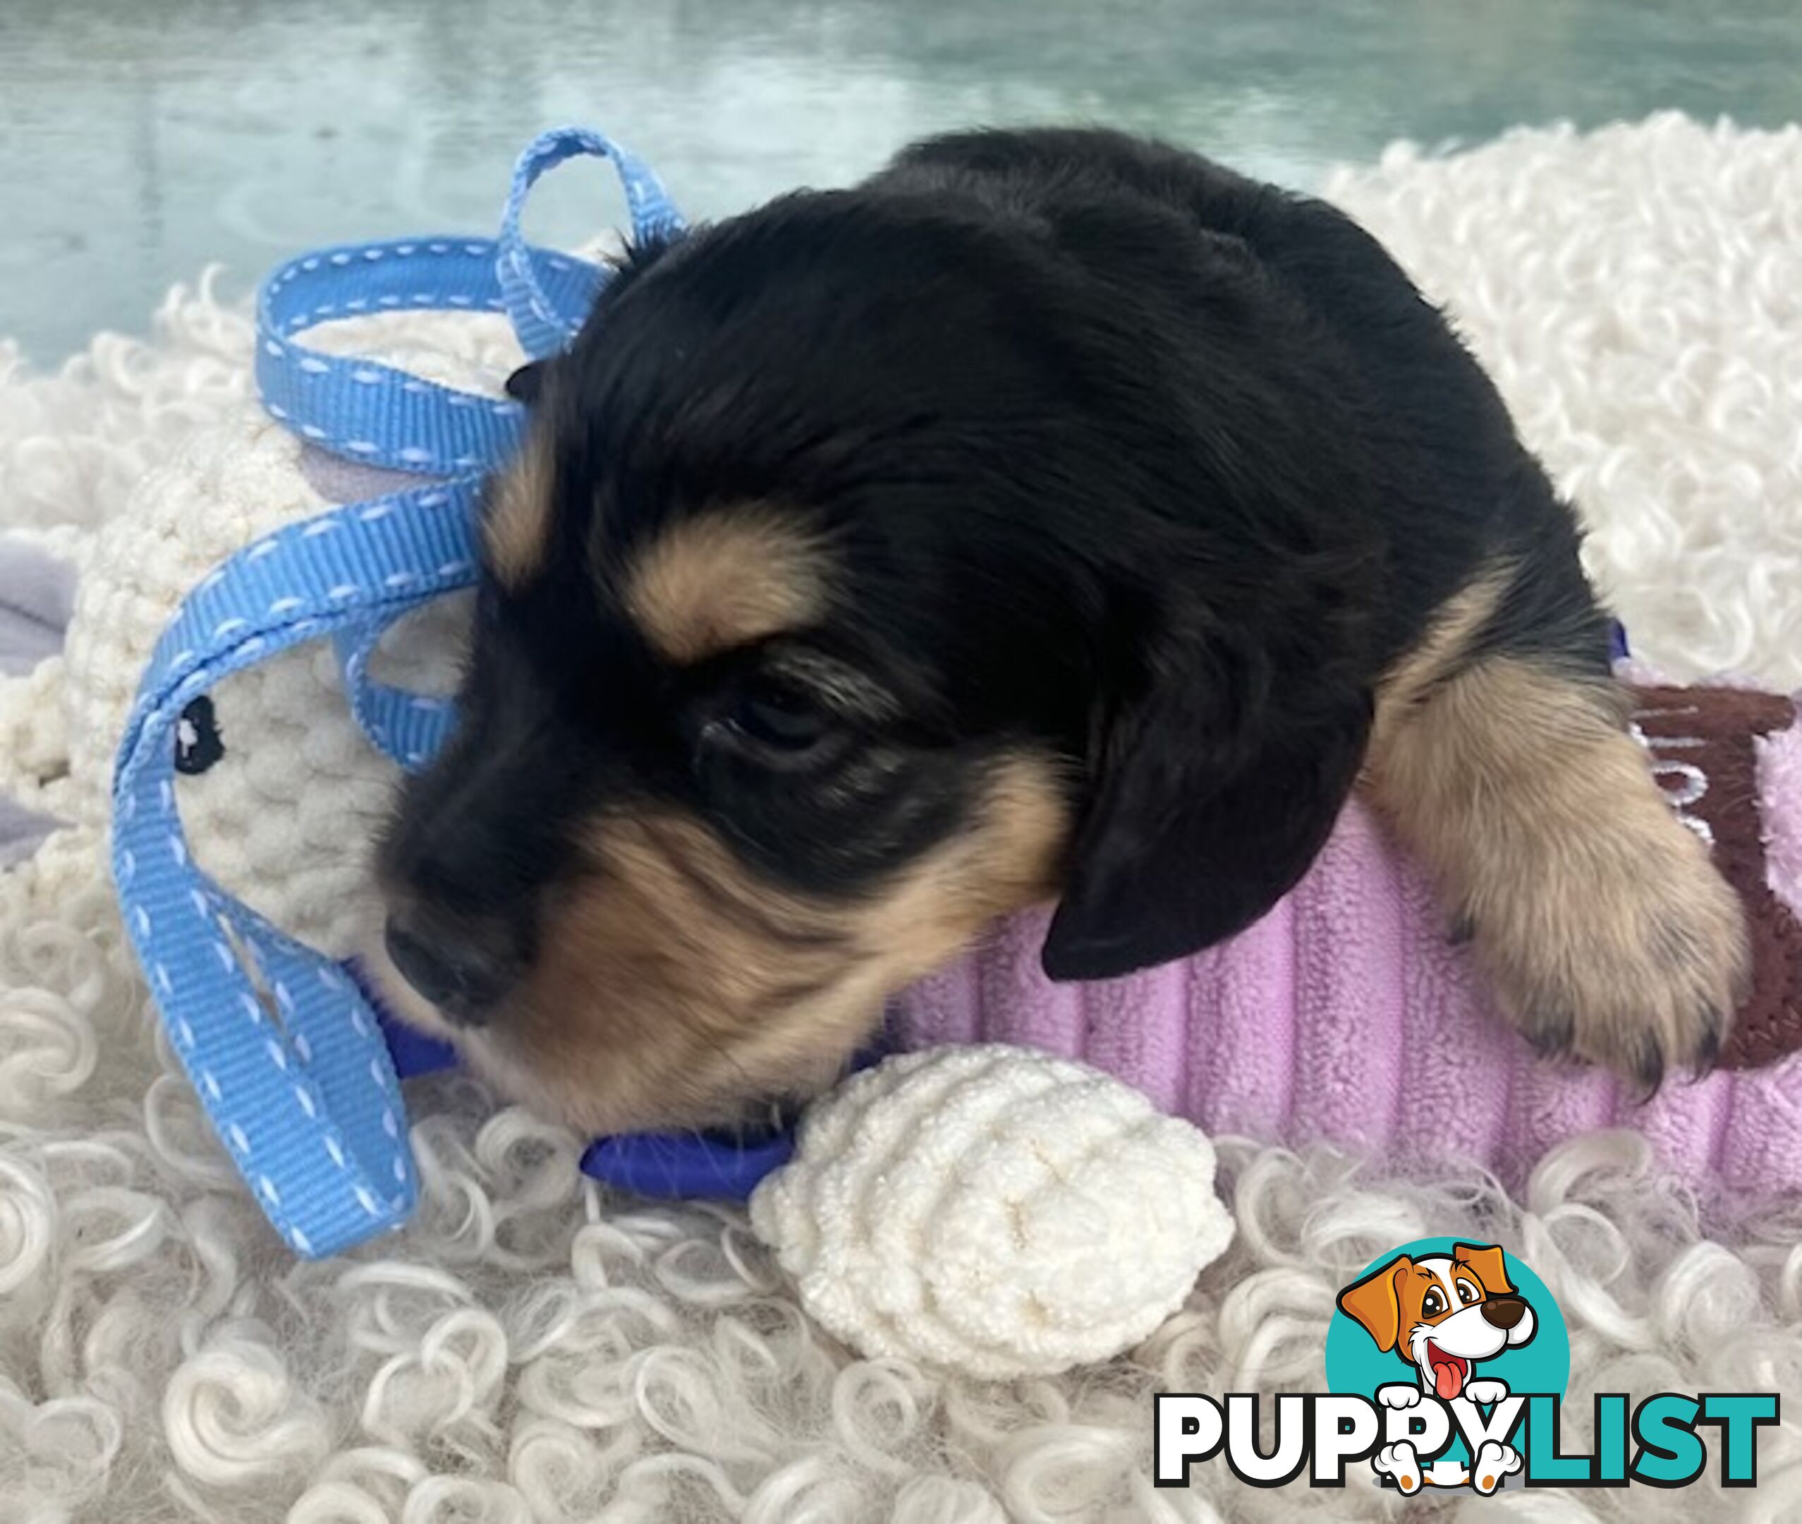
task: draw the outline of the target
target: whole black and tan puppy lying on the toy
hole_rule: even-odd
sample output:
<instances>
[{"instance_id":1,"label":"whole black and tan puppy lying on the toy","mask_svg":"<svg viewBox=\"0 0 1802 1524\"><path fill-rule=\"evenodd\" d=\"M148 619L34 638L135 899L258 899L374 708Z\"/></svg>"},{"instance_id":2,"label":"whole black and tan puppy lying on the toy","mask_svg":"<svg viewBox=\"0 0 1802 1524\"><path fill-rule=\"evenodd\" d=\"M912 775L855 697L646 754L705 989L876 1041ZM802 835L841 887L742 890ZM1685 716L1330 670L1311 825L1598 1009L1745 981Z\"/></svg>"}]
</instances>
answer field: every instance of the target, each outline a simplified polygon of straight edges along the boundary
<instances>
[{"instance_id":1,"label":"whole black and tan puppy lying on the toy","mask_svg":"<svg viewBox=\"0 0 1802 1524\"><path fill-rule=\"evenodd\" d=\"M1337 211L939 139L634 251L517 390L461 729L382 849L396 1001L505 1089L742 1116L998 913L1058 902L1060 979L1240 931L1353 786L1535 1042L1714 1053L1739 907L1573 514Z\"/></svg>"}]
</instances>

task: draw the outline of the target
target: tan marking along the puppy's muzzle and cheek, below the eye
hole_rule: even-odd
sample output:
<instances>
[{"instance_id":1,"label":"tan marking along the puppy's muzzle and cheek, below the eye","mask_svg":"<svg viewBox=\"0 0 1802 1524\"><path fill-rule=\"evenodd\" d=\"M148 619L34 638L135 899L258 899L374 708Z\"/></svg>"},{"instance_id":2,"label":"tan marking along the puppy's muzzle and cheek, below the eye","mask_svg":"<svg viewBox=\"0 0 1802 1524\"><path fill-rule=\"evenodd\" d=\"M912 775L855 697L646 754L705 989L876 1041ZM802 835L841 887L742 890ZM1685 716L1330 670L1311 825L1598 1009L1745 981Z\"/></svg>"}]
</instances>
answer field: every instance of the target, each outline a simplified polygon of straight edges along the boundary
<instances>
[{"instance_id":1,"label":"tan marking along the puppy's muzzle and cheek, below the eye","mask_svg":"<svg viewBox=\"0 0 1802 1524\"><path fill-rule=\"evenodd\" d=\"M701 1125L750 1095L809 1095L885 996L1052 893L1067 831L1054 770L1020 757L969 830L885 893L829 904L757 880L699 821L596 822L602 871L548 925L490 1073L593 1131Z\"/></svg>"}]
</instances>

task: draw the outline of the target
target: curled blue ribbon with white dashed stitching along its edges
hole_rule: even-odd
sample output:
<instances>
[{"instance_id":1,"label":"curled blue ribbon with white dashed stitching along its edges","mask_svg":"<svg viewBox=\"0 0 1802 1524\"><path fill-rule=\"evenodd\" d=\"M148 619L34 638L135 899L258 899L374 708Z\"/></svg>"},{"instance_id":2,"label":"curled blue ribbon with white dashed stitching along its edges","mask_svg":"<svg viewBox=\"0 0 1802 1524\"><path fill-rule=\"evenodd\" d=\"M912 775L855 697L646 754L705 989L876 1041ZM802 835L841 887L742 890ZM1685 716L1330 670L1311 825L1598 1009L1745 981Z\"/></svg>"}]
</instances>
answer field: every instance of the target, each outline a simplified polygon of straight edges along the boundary
<instances>
[{"instance_id":1,"label":"curled blue ribbon with white dashed stitching along its edges","mask_svg":"<svg viewBox=\"0 0 1802 1524\"><path fill-rule=\"evenodd\" d=\"M389 624L474 581L476 494L517 447L523 411L323 353L305 334L384 310L501 310L530 357L559 352L605 272L528 245L519 218L533 182L578 155L613 164L634 238L681 229L649 168L600 133L564 128L521 155L497 238L319 249L265 283L256 379L268 413L319 449L422 482L287 525L211 572L159 638L119 745L112 866L126 931L214 1131L268 1221L308 1257L411 1214L405 1107L355 979L195 866L177 808L177 725L231 673L332 637L357 723L382 752L418 768L441 743L450 703L377 684L368 662Z\"/></svg>"}]
</instances>

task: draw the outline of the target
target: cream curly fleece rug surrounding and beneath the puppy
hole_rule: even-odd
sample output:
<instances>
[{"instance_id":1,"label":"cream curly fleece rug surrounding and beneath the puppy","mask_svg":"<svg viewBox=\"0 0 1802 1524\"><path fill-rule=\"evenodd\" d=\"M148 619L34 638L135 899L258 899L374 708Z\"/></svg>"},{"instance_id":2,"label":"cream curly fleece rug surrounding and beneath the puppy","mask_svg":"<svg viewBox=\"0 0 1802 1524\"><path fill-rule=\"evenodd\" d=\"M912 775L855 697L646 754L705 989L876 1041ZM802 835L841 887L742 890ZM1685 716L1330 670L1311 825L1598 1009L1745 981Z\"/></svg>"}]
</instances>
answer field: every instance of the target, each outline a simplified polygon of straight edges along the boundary
<instances>
[{"instance_id":1,"label":"cream curly fleece rug surrounding and beneath the puppy","mask_svg":"<svg viewBox=\"0 0 1802 1524\"><path fill-rule=\"evenodd\" d=\"M1391 151L1332 195L1451 303L1595 527L1591 566L1667 669L1802 685L1802 130L1660 117ZM202 283L151 343L61 375L0 346L0 525L97 523L249 390ZM1802 1214L1706 1237L1631 1136L1524 1199L1454 1174L1227 1143L1238 1241L1132 1358L980 1385L847 1356L732 1214L616 1199L575 1140L467 1082L414 1093L425 1205L294 1264L180 1084L101 882L0 878L0 1519L7 1524L1204 1520L1388 1517L1216 1466L1150 1484L1150 1394L1321 1389L1335 1290L1427 1234L1499 1237L1593 1391L1777 1389L1761 1486L1512 1492L1472 1519L1802 1519ZM1451 1508L1451 1504L1445 1504Z\"/></svg>"}]
</instances>

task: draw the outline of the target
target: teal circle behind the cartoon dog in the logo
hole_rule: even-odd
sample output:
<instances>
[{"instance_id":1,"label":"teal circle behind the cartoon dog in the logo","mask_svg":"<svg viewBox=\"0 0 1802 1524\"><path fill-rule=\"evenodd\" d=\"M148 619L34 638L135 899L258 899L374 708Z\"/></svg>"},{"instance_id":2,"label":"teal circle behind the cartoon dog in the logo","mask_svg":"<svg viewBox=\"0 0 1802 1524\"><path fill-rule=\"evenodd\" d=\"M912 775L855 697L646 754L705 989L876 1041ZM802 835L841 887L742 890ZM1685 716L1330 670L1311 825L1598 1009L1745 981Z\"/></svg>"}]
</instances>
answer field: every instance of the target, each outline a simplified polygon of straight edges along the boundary
<instances>
[{"instance_id":1,"label":"teal circle behind the cartoon dog in the logo","mask_svg":"<svg viewBox=\"0 0 1802 1524\"><path fill-rule=\"evenodd\" d=\"M1350 1284L1359 1284L1373 1277L1379 1270L1395 1264L1402 1255L1422 1261L1434 1255L1452 1255L1465 1248L1487 1250L1490 1244L1472 1244L1469 1239L1415 1239L1400 1244L1389 1253L1379 1255L1366 1264ZM1474 1261L1483 1264L1481 1253ZM1564 1315L1546 1290L1546 1282L1534 1275L1519 1259L1503 1250L1503 1270L1514 1295L1524 1299L1534 1311L1534 1335L1524 1344L1508 1345L1488 1360L1479 1360L1470 1369L1472 1380L1499 1380L1508 1383L1508 1391L1517 1396L1534 1392L1552 1392L1562 1398L1571 1374L1571 1340L1564 1329ZM1406 1277L1404 1277L1406 1284ZM1494 1286L1487 1286L1494 1293ZM1342 1293L1341 1293L1342 1295ZM1380 1300L1380 1299L1379 1299ZM1377 1387L1397 1382L1422 1385L1420 1367L1406 1358L1407 1326L1413 1322L1411 1309L1402 1313L1398 1345L1382 1349L1370 1329L1350 1317L1342 1306L1333 1308L1332 1322L1326 1326L1326 1387L1333 1392L1373 1398ZM1402 1353L1397 1353L1400 1349ZM1431 1387L1427 1387L1431 1394ZM1458 1446L1461 1454L1461 1445Z\"/></svg>"}]
</instances>

